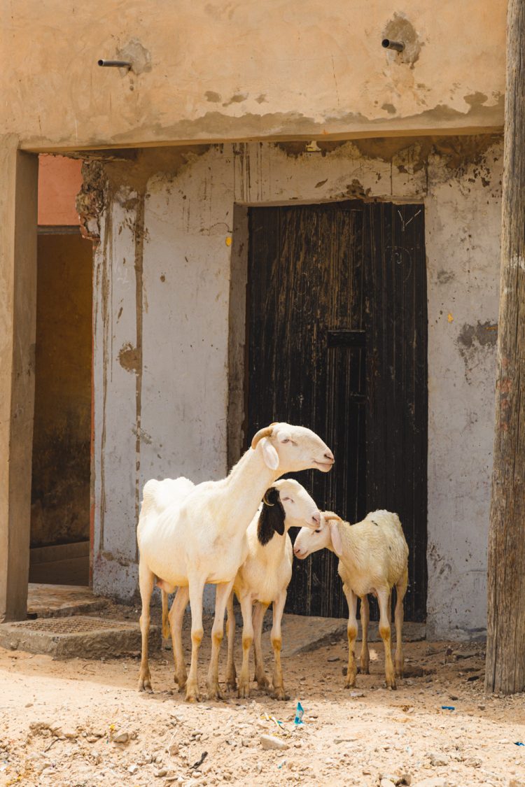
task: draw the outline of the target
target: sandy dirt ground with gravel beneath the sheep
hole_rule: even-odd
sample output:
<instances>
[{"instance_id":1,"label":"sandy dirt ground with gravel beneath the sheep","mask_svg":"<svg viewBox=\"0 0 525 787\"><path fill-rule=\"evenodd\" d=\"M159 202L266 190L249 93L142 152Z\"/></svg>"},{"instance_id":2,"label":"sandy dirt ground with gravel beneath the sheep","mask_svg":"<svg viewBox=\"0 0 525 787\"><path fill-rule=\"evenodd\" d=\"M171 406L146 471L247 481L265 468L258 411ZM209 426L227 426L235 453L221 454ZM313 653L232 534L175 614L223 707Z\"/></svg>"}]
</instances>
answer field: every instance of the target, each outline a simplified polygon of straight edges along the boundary
<instances>
[{"instance_id":1,"label":"sandy dirt ground with gravel beneath the sheep","mask_svg":"<svg viewBox=\"0 0 525 787\"><path fill-rule=\"evenodd\" d=\"M138 618L132 608L105 614ZM205 619L202 690L210 627ZM355 689L343 687L342 637L283 659L289 701L254 685L249 700L229 693L189 705L170 651L153 655L154 693L144 694L137 658L54 661L0 648L0 785L525 787L525 746L516 745L525 743L525 695L485 696L482 645L407 643L412 677L397 691L383 689L382 651L372 644L371 674ZM221 656L223 675L224 645ZM264 749L262 735L279 748Z\"/></svg>"}]
</instances>

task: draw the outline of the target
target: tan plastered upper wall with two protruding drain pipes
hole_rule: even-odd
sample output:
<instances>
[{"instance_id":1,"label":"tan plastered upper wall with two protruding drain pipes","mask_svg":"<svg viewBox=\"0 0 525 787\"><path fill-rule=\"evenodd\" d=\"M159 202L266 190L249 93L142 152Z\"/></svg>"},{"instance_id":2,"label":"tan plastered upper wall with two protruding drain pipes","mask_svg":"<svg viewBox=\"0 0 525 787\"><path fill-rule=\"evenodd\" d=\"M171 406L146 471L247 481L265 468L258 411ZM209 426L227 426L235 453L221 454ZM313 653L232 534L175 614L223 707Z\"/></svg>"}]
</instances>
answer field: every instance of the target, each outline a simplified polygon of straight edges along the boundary
<instances>
[{"instance_id":1,"label":"tan plastered upper wall with two protruding drain pipes","mask_svg":"<svg viewBox=\"0 0 525 787\"><path fill-rule=\"evenodd\" d=\"M68 150L501 127L505 9L46 0L35 13L30 0L3 3L0 134ZM385 34L410 43L406 57L383 50ZM139 74L98 68L130 53Z\"/></svg>"}]
</instances>

